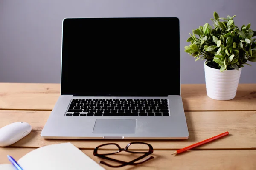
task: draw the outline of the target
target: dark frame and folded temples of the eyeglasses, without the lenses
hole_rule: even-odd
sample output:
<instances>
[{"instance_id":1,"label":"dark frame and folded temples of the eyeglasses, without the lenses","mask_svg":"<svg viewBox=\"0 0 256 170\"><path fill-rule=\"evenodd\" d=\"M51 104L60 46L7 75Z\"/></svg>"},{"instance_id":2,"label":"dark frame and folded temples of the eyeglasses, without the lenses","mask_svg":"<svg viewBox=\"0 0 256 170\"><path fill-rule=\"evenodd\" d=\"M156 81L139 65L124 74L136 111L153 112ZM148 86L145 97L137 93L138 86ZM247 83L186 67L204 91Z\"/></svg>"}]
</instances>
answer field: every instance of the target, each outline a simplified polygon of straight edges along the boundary
<instances>
[{"instance_id":1,"label":"dark frame and folded temples of the eyeglasses, without the lenses","mask_svg":"<svg viewBox=\"0 0 256 170\"><path fill-rule=\"evenodd\" d=\"M112 144L112 145L116 145L119 150L118 150L117 152L114 152L114 153L105 153L105 154L99 154L99 153L98 153L98 149L99 149L100 147L106 146L106 145L111 145L111 144ZM133 152L133 151L128 150L128 147L131 146L131 144L146 144L146 145L148 145L149 150L148 150L147 152ZM117 160L117 159L113 159L113 158L107 157L107 155L114 155L114 154L120 153L120 152L122 152L122 151L129 152L129 153L139 153L139 154L144 153L144 155L138 157L137 159L134 159L134 160L132 160L132 161L129 161L129 162L119 161L119 160ZM106 144L102 144L102 145L99 145L98 147L96 147L96 148L93 150L93 155L94 155L94 156L97 156L97 157L99 157L99 158L102 158L102 159L107 159L107 160L110 160L110 161L118 162L118 163L120 163L120 164L122 164L122 165L113 166L113 165L110 165L110 164L106 163L105 161L99 161L99 163L101 163L101 164L105 164L105 165L107 165L107 166L109 166L109 167L124 167L124 166L126 166L126 165L138 165L138 164L142 164L142 163L144 163L144 162L146 162L146 161L149 161L150 159L153 159L154 157L153 157L153 156L150 156L150 157L148 157L147 159L145 159L145 160L142 161L142 162L134 163L135 161L138 161L138 160L140 160L140 159L143 159L143 158L145 158L146 156L152 154L153 152L154 152L154 149L153 149L152 145L151 145L151 144L148 144L148 143L145 143L145 142L131 142L131 143L128 143L125 148L121 148L121 147L120 147L118 144L116 144L116 143L106 143Z\"/></svg>"}]
</instances>

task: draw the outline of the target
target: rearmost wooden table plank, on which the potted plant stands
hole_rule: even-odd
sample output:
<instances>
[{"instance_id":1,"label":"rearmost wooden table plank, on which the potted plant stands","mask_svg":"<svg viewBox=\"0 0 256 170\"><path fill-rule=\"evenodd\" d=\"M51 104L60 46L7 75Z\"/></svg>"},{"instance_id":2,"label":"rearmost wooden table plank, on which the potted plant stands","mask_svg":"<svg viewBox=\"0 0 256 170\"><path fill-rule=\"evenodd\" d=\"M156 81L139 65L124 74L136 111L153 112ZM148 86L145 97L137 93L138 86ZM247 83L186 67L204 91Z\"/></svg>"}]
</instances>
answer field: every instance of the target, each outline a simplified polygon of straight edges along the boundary
<instances>
[{"instance_id":1,"label":"rearmost wooden table plank, on which the potted plant stands","mask_svg":"<svg viewBox=\"0 0 256 170\"><path fill-rule=\"evenodd\" d=\"M0 109L52 110L60 84L0 83ZM256 84L239 84L236 98L210 99L204 84L181 85L185 111L256 111Z\"/></svg>"}]
</instances>

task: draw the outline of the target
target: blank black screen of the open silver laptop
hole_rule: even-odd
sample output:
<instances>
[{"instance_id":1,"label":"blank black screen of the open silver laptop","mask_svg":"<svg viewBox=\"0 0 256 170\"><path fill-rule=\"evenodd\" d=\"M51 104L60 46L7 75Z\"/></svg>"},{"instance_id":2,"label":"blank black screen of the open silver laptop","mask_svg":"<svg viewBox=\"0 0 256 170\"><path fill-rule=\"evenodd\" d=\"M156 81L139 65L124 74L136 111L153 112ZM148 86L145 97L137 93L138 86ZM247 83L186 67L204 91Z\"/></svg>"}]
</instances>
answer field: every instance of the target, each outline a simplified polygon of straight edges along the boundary
<instances>
[{"instance_id":1,"label":"blank black screen of the open silver laptop","mask_svg":"<svg viewBox=\"0 0 256 170\"><path fill-rule=\"evenodd\" d=\"M63 20L61 94L180 95L177 18Z\"/></svg>"}]
</instances>

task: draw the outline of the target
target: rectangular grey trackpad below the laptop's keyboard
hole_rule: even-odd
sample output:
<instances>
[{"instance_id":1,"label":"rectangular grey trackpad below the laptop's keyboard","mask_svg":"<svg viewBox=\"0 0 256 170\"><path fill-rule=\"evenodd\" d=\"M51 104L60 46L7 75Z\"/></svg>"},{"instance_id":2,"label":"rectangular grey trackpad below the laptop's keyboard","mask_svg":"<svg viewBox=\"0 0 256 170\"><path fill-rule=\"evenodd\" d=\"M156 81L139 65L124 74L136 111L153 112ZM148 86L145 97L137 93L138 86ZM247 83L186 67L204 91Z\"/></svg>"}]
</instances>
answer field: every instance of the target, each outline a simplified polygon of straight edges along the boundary
<instances>
[{"instance_id":1,"label":"rectangular grey trackpad below the laptop's keyboard","mask_svg":"<svg viewBox=\"0 0 256 170\"><path fill-rule=\"evenodd\" d=\"M93 133L135 133L136 119L96 119Z\"/></svg>"}]
</instances>

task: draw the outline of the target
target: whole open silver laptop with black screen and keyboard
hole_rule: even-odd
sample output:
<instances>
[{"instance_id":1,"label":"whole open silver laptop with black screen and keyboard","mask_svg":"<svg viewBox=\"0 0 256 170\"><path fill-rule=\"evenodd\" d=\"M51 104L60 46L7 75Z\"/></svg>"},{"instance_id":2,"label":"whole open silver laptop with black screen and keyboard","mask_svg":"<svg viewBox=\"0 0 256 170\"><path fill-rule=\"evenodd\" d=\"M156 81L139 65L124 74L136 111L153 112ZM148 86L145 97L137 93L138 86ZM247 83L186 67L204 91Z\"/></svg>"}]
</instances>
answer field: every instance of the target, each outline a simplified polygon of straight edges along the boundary
<instances>
[{"instance_id":1,"label":"whole open silver laptop with black screen and keyboard","mask_svg":"<svg viewBox=\"0 0 256 170\"><path fill-rule=\"evenodd\" d=\"M65 18L47 139L188 139L176 17Z\"/></svg>"}]
</instances>

